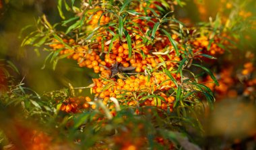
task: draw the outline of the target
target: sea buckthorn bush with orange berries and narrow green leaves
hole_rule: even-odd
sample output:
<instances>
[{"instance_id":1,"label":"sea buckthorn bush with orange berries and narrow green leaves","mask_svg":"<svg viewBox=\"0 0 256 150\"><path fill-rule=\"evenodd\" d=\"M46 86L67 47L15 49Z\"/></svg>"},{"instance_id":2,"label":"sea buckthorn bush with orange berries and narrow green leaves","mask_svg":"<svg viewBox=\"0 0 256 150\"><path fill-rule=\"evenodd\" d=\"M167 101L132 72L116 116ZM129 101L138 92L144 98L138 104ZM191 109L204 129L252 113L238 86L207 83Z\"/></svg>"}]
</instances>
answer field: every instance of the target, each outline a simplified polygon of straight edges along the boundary
<instances>
[{"instance_id":1,"label":"sea buckthorn bush with orange berries and narrow green leaves","mask_svg":"<svg viewBox=\"0 0 256 150\"><path fill-rule=\"evenodd\" d=\"M39 95L0 68L1 106L22 112L8 124L15 136L0 132L5 148L200 149L193 136L204 133L205 110L226 97L255 98L255 54L243 46L241 38L250 37L238 23L255 21L240 2L221 1L226 8L205 21L210 12L194 1L200 23L177 17L186 4L180 0L57 3L62 21L42 15L22 46L42 49L53 70L69 59L94 77ZM233 66L230 55L243 63Z\"/></svg>"}]
</instances>

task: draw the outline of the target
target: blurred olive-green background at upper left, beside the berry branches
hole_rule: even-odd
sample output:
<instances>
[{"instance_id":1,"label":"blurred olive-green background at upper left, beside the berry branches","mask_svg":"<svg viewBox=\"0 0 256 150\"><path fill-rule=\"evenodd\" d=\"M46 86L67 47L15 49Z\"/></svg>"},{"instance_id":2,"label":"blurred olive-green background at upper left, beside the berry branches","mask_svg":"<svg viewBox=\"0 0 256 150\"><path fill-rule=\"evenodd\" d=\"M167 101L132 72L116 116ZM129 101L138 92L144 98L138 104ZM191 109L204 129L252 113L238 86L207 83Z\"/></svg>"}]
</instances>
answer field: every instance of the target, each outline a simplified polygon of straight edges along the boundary
<instances>
[{"instance_id":1,"label":"blurred olive-green background at upper left, beside the berry branches","mask_svg":"<svg viewBox=\"0 0 256 150\"><path fill-rule=\"evenodd\" d=\"M76 62L63 59L53 70L53 64L46 63L42 70L47 52L26 46L21 48L22 40L29 34L29 29L22 31L27 25L36 25L36 20L45 14L51 23L61 21L57 11L57 1L52 0L0 0L0 58L10 60L20 70L18 78L26 86L39 94L52 90L68 88L68 83L74 87L84 87L92 83L92 76L87 68L79 68ZM89 94L88 90L85 90Z\"/></svg>"}]
</instances>

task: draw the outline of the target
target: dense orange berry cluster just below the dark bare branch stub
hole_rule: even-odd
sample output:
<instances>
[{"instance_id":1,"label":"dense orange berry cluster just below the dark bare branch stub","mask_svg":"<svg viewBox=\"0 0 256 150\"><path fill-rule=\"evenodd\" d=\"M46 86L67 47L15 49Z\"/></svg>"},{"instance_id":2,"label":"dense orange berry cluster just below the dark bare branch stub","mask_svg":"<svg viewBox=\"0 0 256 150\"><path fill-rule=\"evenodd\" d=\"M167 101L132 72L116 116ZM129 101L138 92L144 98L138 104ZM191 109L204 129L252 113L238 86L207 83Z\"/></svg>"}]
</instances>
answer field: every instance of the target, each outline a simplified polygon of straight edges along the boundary
<instances>
[{"instance_id":1,"label":"dense orange berry cluster just below the dark bare branch stub","mask_svg":"<svg viewBox=\"0 0 256 150\"><path fill-rule=\"evenodd\" d=\"M179 80L181 76L177 76ZM122 105L136 105L141 106L158 106L164 110L170 108L172 111L174 96L166 96L164 91L168 91L170 88L175 88L176 85L170 80L166 74L152 74L150 78L144 75L129 76L129 78L119 78L115 80L104 80L104 78L94 78L94 87L92 92L95 96L102 98L104 104L109 102L110 97L116 97L119 99ZM156 98L141 99L146 94L139 93L153 93L162 98L162 100L156 100ZM157 93L158 92L158 93Z\"/></svg>"}]
</instances>

